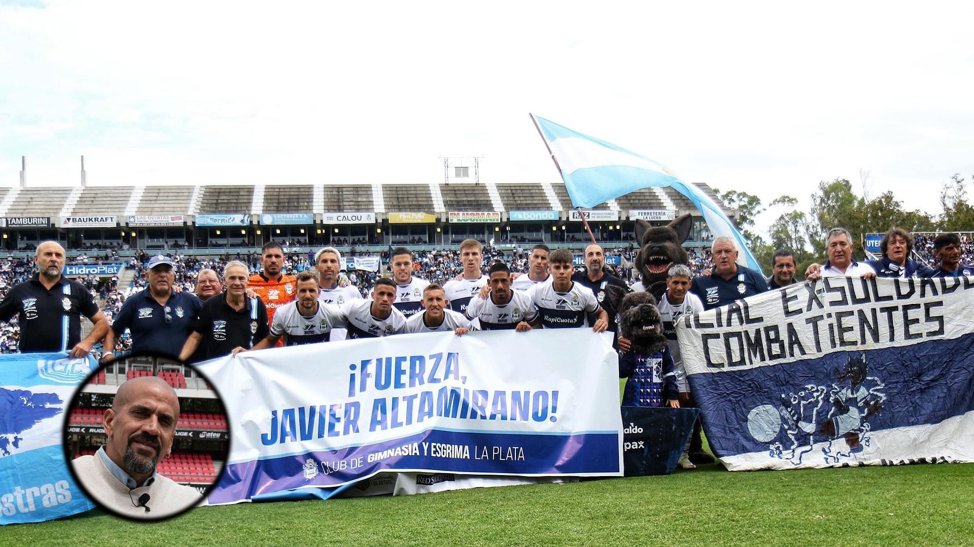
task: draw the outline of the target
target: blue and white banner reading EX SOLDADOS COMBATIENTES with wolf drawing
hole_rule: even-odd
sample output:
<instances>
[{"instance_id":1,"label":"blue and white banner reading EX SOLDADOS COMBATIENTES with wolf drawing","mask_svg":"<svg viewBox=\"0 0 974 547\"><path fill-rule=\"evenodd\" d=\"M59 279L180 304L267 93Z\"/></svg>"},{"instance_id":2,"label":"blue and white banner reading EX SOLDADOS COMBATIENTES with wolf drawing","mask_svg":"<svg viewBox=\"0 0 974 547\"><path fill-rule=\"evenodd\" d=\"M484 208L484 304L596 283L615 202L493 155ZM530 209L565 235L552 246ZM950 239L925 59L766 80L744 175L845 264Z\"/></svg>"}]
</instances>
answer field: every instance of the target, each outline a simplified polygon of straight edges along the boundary
<instances>
[{"instance_id":1,"label":"blue and white banner reading EX SOLDADOS COMBATIENTES with wolf drawing","mask_svg":"<svg viewBox=\"0 0 974 547\"><path fill-rule=\"evenodd\" d=\"M825 277L677 327L732 471L974 461L974 277Z\"/></svg>"}]
</instances>

